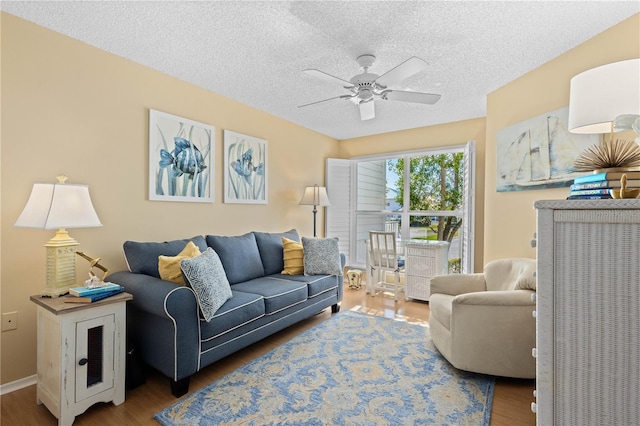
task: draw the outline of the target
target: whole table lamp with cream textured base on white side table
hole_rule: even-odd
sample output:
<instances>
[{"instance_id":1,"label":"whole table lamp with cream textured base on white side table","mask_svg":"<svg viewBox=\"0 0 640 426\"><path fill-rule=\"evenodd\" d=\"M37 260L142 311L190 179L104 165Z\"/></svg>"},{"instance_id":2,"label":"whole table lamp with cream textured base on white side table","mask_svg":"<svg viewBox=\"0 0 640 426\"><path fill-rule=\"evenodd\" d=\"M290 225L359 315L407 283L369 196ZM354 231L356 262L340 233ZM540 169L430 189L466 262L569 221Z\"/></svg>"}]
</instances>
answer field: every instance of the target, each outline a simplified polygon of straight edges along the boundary
<instances>
[{"instance_id":1,"label":"whole table lamp with cream textured base on white side table","mask_svg":"<svg viewBox=\"0 0 640 426\"><path fill-rule=\"evenodd\" d=\"M33 185L27 205L18 217L18 228L57 229L44 246L47 250L47 282L42 296L58 297L76 286L76 246L65 228L102 226L91 203L87 185L66 184L66 176L58 183Z\"/></svg>"}]
</instances>

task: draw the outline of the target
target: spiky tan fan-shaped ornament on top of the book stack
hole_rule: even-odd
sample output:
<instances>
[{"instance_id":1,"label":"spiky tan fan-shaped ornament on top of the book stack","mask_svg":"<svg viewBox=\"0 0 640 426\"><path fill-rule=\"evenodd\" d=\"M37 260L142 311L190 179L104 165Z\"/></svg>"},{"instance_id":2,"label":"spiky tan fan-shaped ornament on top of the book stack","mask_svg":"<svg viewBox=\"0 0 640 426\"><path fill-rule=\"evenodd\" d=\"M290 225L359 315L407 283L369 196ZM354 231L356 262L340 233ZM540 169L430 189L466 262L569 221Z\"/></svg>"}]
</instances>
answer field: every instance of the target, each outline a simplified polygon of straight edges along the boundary
<instances>
[{"instance_id":1,"label":"spiky tan fan-shaped ornament on top of the book stack","mask_svg":"<svg viewBox=\"0 0 640 426\"><path fill-rule=\"evenodd\" d=\"M573 162L576 172L640 166L640 146L634 141L616 139L590 146Z\"/></svg>"}]
</instances>

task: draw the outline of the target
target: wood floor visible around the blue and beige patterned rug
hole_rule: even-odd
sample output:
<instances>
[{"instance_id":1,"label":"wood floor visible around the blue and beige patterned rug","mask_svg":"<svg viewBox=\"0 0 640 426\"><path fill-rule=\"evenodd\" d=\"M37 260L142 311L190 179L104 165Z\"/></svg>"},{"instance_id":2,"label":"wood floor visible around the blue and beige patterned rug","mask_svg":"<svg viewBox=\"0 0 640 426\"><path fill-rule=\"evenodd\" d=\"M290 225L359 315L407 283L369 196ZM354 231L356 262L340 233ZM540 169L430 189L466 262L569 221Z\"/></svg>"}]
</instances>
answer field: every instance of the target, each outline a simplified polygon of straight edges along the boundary
<instances>
[{"instance_id":1,"label":"wood floor visible around the blue and beige patterned rug","mask_svg":"<svg viewBox=\"0 0 640 426\"><path fill-rule=\"evenodd\" d=\"M371 297L365 293L364 289L349 290L345 288L342 309L354 309L408 322L427 323L429 320L429 304L426 302L400 300L394 303L392 296L379 294L376 297ZM191 378L190 391L193 392L206 386L330 316L331 310L325 309L308 320L293 325L206 367ZM533 389L533 380L498 378L491 411L491 425L535 425L535 415L530 409ZM158 423L153 420L153 415L175 401L176 399L169 390L168 379L151 371L148 372L144 385L127 390L124 404L117 407L111 403L96 404L84 414L76 417L74 425L157 425ZM0 424L2 426L57 425L57 419L49 413L45 406L36 404L35 385L3 395L0 397L0 406ZM402 423L400 422L400 424Z\"/></svg>"}]
</instances>

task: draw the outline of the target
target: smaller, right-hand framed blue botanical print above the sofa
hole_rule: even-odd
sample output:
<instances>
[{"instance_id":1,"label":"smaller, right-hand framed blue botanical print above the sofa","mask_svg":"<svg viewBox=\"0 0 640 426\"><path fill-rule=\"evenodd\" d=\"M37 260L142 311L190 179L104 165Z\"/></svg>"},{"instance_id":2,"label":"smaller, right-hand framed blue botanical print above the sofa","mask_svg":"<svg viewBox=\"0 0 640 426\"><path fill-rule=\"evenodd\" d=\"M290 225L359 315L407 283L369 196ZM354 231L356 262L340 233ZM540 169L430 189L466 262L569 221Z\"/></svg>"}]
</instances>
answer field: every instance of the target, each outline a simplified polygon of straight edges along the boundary
<instances>
[{"instance_id":1,"label":"smaller, right-hand framed blue botanical print above the sofa","mask_svg":"<svg viewBox=\"0 0 640 426\"><path fill-rule=\"evenodd\" d=\"M224 202L267 204L267 141L224 131Z\"/></svg>"}]
</instances>

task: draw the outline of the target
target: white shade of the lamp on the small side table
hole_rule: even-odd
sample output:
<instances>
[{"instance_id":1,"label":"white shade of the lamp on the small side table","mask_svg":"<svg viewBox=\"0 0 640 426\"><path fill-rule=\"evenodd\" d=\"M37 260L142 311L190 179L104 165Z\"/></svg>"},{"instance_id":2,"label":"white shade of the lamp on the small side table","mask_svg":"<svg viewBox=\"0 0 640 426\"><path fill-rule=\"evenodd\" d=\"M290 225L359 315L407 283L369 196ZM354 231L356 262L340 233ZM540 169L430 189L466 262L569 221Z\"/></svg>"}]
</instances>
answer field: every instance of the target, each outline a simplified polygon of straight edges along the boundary
<instances>
[{"instance_id":1,"label":"white shade of the lamp on the small side table","mask_svg":"<svg viewBox=\"0 0 640 426\"><path fill-rule=\"evenodd\" d=\"M36 183L15 223L18 228L59 229L102 226L87 185Z\"/></svg>"}]
</instances>

